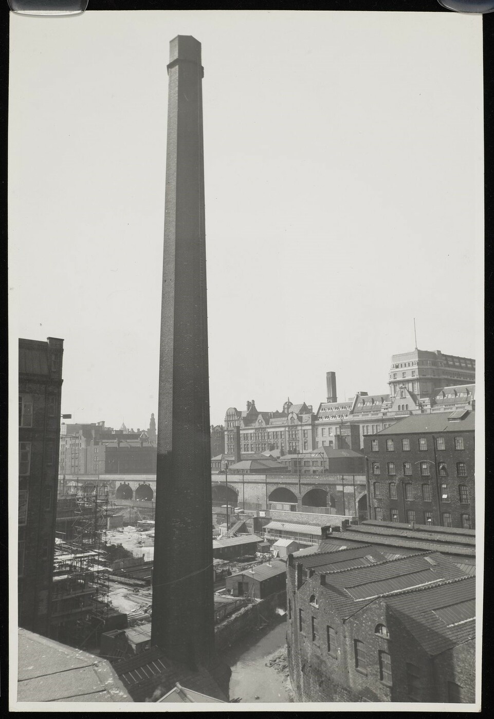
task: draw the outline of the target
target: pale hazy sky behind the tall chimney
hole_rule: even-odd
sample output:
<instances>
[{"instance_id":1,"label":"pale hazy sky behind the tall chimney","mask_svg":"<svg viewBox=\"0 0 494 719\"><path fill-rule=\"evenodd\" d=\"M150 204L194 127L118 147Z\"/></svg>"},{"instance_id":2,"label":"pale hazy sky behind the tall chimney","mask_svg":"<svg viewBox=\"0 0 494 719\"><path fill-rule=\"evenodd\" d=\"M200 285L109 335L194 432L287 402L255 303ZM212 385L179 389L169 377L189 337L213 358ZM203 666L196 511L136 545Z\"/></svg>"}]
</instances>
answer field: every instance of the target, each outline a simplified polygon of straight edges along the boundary
<instances>
[{"instance_id":1,"label":"pale hazy sky behind the tall chimney","mask_svg":"<svg viewBox=\"0 0 494 719\"><path fill-rule=\"evenodd\" d=\"M142 428L157 411L179 34L205 67L212 423L252 399L316 408L327 370L342 400L387 391L413 317L421 349L475 357L480 17L11 18L11 342L63 337L63 412Z\"/></svg>"}]
</instances>

